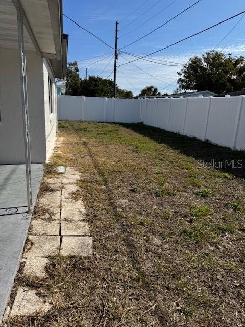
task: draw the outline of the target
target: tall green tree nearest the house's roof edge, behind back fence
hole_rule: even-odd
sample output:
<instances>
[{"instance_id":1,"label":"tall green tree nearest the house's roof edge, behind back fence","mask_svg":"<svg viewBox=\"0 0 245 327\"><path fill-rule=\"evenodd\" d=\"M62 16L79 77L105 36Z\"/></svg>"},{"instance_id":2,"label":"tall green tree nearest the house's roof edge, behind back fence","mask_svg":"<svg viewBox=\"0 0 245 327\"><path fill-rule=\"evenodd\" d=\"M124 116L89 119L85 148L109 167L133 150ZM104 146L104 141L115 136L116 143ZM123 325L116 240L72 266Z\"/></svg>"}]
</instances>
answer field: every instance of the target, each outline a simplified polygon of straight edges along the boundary
<instances>
[{"instance_id":1,"label":"tall green tree nearest the house's roof edge, behind back fence","mask_svg":"<svg viewBox=\"0 0 245 327\"><path fill-rule=\"evenodd\" d=\"M65 94L68 96L76 96L80 90L79 68L77 61L68 62L66 71Z\"/></svg>"}]
</instances>

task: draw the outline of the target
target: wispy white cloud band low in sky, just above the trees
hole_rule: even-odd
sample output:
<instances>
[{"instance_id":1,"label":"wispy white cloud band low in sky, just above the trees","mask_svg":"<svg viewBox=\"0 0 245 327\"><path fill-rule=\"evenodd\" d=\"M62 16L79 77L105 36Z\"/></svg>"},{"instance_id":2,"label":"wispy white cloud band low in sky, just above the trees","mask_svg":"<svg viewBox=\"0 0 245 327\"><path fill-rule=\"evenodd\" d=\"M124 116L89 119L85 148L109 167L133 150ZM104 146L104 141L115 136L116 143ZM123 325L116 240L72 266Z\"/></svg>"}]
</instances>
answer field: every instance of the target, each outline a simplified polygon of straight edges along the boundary
<instances>
[{"instance_id":1,"label":"wispy white cloud band low in sky, just above the trees","mask_svg":"<svg viewBox=\"0 0 245 327\"><path fill-rule=\"evenodd\" d=\"M194 55L201 55L202 53L209 51L210 49L207 48L199 48L195 49L195 52L187 51L182 54L158 54L153 56L152 58L156 58L158 60L166 60L176 63L184 64L186 63L190 57ZM222 47L217 48L216 50L222 50ZM226 47L223 52L225 53L232 53L233 55L244 55L245 54L245 45L230 45ZM140 54L138 54L140 56ZM134 58L130 55L122 54L127 60L131 61ZM122 63L127 62L121 55L119 55L118 66ZM100 58L98 58L99 60ZM105 66L110 61L111 57L107 59L103 59L99 63L94 65L88 66L88 72L90 75L97 75L100 74ZM89 65L92 62L95 62L96 59L91 59L82 63L81 66ZM120 88L131 90L134 95L139 93L139 90L144 88L147 85L154 85L156 86L162 93L168 92L171 93L174 89L178 87L177 79L178 75L177 72L181 70L181 67L176 66L165 66L159 65L148 61L137 60L133 62L135 65L143 69L146 73L152 75L149 76L145 72L142 72L139 68L135 67L132 64L122 65L118 68L117 73L117 85ZM162 62L164 63L164 62ZM169 63L169 65L171 65ZM110 62L108 67L105 69L104 73L101 77L106 78L114 68L114 60ZM83 72L81 72L81 76L83 76ZM110 76L113 78L113 75ZM169 85L172 84L173 85Z\"/></svg>"}]
</instances>

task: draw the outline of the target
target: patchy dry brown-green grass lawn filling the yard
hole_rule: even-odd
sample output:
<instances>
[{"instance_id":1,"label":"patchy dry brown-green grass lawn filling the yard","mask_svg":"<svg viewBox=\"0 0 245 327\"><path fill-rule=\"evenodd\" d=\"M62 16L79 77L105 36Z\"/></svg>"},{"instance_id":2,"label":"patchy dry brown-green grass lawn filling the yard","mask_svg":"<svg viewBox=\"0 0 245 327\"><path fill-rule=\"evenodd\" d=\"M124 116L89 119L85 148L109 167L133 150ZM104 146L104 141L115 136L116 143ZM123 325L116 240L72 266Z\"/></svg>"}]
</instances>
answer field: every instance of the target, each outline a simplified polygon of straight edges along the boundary
<instances>
[{"instance_id":1,"label":"patchy dry brown-green grass lawn filling the yard","mask_svg":"<svg viewBox=\"0 0 245 327\"><path fill-rule=\"evenodd\" d=\"M94 256L51 259L43 281L19 274L53 309L8 326L244 327L244 168L198 162L244 153L141 124L60 131L52 164L82 174Z\"/></svg>"}]
</instances>

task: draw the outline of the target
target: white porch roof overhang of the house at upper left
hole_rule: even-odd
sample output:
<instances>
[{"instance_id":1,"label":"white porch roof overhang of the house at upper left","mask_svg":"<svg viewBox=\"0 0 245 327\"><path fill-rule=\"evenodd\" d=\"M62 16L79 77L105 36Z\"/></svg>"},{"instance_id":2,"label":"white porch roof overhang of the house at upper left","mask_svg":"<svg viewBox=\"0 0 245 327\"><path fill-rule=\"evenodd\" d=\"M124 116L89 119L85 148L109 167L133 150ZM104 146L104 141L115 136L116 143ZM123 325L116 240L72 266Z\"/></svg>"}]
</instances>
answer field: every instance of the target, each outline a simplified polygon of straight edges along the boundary
<instances>
[{"instance_id":1,"label":"white porch roof overhang of the house at upper left","mask_svg":"<svg viewBox=\"0 0 245 327\"><path fill-rule=\"evenodd\" d=\"M16 8L23 14L24 46L50 60L55 77L66 74L68 35L63 35L62 0L0 2L0 48L18 49Z\"/></svg>"}]
</instances>

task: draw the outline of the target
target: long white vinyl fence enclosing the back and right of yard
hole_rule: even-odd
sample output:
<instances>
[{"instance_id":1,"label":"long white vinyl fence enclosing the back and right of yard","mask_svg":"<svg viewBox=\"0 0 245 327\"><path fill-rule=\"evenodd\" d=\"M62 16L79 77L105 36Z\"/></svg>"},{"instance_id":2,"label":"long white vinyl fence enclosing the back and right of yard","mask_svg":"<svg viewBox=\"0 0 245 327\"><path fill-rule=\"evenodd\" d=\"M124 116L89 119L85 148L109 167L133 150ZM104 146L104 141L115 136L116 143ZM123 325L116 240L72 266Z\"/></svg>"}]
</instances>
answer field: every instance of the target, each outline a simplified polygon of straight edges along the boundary
<instances>
[{"instance_id":1,"label":"long white vinyl fence enclosing the back and right of yard","mask_svg":"<svg viewBox=\"0 0 245 327\"><path fill-rule=\"evenodd\" d=\"M245 150L245 96L114 99L58 96L58 119L139 123Z\"/></svg>"}]
</instances>

